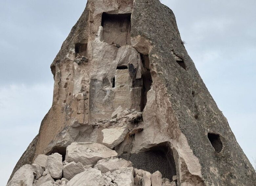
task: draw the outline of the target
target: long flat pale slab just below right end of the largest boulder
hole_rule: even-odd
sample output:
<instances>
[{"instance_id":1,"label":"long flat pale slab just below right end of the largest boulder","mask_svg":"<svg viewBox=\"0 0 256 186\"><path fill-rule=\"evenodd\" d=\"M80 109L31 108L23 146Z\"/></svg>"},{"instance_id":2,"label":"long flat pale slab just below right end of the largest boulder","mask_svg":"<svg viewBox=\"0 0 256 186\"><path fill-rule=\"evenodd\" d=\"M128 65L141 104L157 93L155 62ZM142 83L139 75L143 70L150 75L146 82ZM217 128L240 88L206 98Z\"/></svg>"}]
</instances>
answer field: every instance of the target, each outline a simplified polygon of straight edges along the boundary
<instances>
[{"instance_id":1,"label":"long flat pale slab just below right end of the largest boulder","mask_svg":"<svg viewBox=\"0 0 256 186\"><path fill-rule=\"evenodd\" d=\"M95 165L95 167L97 167L98 170L101 171L101 173L106 173L108 171L113 172L120 168L126 168L131 166L132 166L131 161L127 161L121 158L104 158L99 160Z\"/></svg>"}]
</instances>

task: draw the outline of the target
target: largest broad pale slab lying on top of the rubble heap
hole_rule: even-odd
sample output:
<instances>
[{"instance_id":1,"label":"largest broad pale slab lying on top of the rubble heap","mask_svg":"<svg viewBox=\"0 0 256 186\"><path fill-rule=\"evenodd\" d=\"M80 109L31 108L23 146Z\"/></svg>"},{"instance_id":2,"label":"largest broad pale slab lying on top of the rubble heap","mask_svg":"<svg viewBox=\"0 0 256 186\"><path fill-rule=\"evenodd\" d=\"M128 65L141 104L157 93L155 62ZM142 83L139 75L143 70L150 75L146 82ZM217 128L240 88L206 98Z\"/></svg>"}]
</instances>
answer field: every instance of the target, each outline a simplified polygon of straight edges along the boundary
<instances>
[{"instance_id":1,"label":"largest broad pale slab lying on top of the rubble heap","mask_svg":"<svg viewBox=\"0 0 256 186\"><path fill-rule=\"evenodd\" d=\"M116 151L105 145L93 142L73 142L67 147L66 161L81 162L83 165L95 165L102 158L117 156Z\"/></svg>"}]
</instances>

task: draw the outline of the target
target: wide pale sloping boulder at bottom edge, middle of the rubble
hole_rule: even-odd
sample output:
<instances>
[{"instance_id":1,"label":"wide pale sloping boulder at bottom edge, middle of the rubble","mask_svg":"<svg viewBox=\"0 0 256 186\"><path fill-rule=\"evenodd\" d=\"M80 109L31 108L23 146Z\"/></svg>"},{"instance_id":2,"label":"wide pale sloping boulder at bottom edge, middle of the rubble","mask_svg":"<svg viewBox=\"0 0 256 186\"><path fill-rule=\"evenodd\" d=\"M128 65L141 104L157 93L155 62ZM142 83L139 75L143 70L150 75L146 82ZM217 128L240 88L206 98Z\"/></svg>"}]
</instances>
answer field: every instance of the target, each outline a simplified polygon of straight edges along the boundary
<instances>
[{"instance_id":1,"label":"wide pale sloping boulder at bottom edge, middle of the rubble","mask_svg":"<svg viewBox=\"0 0 256 186\"><path fill-rule=\"evenodd\" d=\"M105 181L101 172L96 169L89 168L73 177L67 183L67 186L104 186L104 184Z\"/></svg>"}]
</instances>

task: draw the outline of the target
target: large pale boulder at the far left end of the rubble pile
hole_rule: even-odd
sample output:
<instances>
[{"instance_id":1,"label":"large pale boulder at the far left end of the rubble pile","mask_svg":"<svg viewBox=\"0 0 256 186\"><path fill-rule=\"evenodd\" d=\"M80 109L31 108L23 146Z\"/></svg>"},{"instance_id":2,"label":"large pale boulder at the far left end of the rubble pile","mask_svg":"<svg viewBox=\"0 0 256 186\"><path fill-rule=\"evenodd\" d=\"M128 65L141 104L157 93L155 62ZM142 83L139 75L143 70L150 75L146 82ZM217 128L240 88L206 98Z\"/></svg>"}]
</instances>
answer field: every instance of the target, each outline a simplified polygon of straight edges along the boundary
<instances>
[{"instance_id":1,"label":"large pale boulder at the far left end of the rubble pile","mask_svg":"<svg viewBox=\"0 0 256 186\"><path fill-rule=\"evenodd\" d=\"M32 186L34 174L31 165L23 165L13 175L6 186Z\"/></svg>"}]
</instances>

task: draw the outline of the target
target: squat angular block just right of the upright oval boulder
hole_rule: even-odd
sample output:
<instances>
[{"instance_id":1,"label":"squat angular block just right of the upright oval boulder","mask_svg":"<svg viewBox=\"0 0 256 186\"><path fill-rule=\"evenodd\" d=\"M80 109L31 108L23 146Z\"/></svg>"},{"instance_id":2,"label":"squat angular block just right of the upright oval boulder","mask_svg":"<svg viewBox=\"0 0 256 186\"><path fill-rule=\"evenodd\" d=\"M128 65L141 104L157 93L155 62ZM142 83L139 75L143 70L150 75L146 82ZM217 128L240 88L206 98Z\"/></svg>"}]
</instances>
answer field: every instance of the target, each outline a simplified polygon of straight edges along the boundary
<instances>
[{"instance_id":1,"label":"squat angular block just right of the upright oval boulder","mask_svg":"<svg viewBox=\"0 0 256 186\"><path fill-rule=\"evenodd\" d=\"M84 168L80 167L79 163L75 163L75 161L63 166L63 177L68 180L72 179L75 175L81 172L84 172Z\"/></svg>"}]
</instances>

